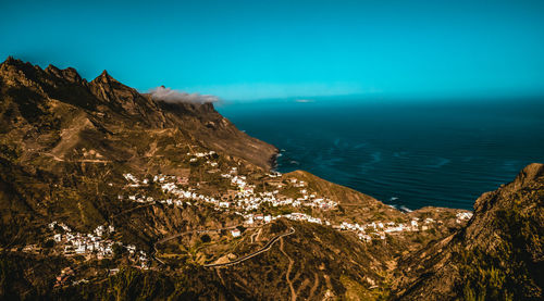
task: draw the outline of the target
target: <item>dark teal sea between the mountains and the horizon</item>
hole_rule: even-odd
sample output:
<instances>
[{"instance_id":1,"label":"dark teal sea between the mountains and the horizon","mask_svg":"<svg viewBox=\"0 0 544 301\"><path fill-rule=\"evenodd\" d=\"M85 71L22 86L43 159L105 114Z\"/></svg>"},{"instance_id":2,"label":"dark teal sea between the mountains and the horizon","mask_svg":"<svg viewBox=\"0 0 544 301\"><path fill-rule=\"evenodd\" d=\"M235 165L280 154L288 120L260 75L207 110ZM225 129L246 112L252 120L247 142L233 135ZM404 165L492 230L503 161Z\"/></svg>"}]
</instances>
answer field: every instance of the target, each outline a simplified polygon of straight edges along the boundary
<instances>
[{"instance_id":1,"label":"dark teal sea between the mountains and the horizon","mask_svg":"<svg viewBox=\"0 0 544 301\"><path fill-rule=\"evenodd\" d=\"M240 130L308 171L404 210L471 210L532 162L544 163L544 99L357 98L223 102Z\"/></svg>"}]
</instances>

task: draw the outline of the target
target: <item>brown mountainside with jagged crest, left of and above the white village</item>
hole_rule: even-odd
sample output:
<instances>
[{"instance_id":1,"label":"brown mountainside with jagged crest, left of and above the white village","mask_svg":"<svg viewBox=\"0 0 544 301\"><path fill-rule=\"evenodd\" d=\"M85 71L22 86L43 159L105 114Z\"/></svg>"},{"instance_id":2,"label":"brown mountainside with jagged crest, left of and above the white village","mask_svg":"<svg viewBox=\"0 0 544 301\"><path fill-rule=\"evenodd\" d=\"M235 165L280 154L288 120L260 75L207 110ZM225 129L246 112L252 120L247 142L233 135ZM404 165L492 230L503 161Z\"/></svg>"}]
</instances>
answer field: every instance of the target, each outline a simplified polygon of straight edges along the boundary
<instances>
[{"instance_id":1,"label":"brown mountainside with jagged crest, left of and above the white village","mask_svg":"<svg viewBox=\"0 0 544 301\"><path fill-rule=\"evenodd\" d=\"M0 64L0 210L8 246L28 242L30 233L60 216L95 227L122 210L111 200L123 173L186 176L183 156L201 150L256 171L269 170L276 151L237 130L211 103L156 101L107 72L87 83L74 68L41 70L13 58Z\"/></svg>"}]
</instances>

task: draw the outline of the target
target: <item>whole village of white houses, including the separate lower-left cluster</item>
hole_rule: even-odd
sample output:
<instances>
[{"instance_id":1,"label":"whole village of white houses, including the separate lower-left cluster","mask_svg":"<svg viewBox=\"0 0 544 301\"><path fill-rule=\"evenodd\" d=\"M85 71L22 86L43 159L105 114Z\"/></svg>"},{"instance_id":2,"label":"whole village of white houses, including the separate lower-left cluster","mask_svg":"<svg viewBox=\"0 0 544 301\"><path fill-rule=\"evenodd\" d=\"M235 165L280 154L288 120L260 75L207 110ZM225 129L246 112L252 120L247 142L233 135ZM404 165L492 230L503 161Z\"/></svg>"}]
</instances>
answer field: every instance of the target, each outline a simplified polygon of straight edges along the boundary
<instances>
[{"instance_id":1,"label":"whole village of white houses, including the separate lower-left cluster","mask_svg":"<svg viewBox=\"0 0 544 301\"><path fill-rule=\"evenodd\" d=\"M211 158L217 154L210 152L188 153L189 162L197 160L206 160L207 166L213 167L213 173L219 173L219 164L213 162ZM324 217L316 217L309 214L311 210L331 211L338 208L338 203L330 200L326 197L318 196L311 191L308 184L295 177L284 178L281 173L272 172L265 175L269 186L273 186L271 191L258 191L255 184L248 181L248 177L238 173L238 167L228 167L226 172L220 173L219 176L228 180L231 189L220 191L220 197L211 197L198 192L200 183L196 187L189 187L189 181L186 178L181 178L173 175L158 174L152 177L139 179L137 176L126 173L123 174L125 187L138 188L147 187L150 183L158 184L160 189L170 198L154 199L139 193L131 193L128 196L119 195L119 201L129 201L141 204L153 205L161 203L163 205L185 208L187 205L198 205L203 203L211 205L215 211L236 214L242 217L243 225L246 228L259 227L272 223L277 218L288 218L292 221L314 223L332 227L339 231L350 231L363 242L371 242L373 239L384 240L387 235L398 235L406 231L424 231L432 228L436 223L433 218L413 217L409 223L395 223L392 221L375 221L367 224L342 222L335 224ZM295 191L296 197L287 197L283 189ZM267 209L287 209L287 213L271 214L265 213ZM305 212L305 209L306 212ZM302 211L302 212L301 212ZM470 220L472 213L459 212L456 216L457 223L462 223ZM50 239L54 241L55 252L60 252L65 256L82 255L86 260L90 259L112 259L115 252L124 252L128 254L128 260L133 266L147 269L150 266L148 254L138 250L134 244L123 244L121 241L115 241L115 227L111 224L97 226L92 233L81 234L73 231L63 223L53 221L48 225ZM231 236L238 238L243 236L239 228L231 229ZM25 252L36 252L39 248L35 244L29 244L23 249ZM112 273L115 271L113 269ZM73 271L66 269L59 276L58 285L63 285L70 278Z\"/></svg>"}]
</instances>

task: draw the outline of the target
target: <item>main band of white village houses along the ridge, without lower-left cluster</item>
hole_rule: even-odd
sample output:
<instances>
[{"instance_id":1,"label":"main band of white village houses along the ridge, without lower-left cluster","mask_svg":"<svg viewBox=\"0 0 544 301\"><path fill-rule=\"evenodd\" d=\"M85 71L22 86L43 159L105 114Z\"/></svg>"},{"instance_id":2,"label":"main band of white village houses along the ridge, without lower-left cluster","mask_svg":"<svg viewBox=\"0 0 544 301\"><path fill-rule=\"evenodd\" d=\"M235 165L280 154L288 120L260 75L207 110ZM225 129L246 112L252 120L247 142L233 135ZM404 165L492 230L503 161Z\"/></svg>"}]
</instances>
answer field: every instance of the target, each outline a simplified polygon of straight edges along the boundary
<instances>
[{"instance_id":1,"label":"main band of white village houses along the ridge, without lower-left cluster","mask_svg":"<svg viewBox=\"0 0 544 301\"><path fill-rule=\"evenodd\" d=\"M206 164L209 166L218 167L217 162L211 161L211 155L215 154L211 152L198 152L191 155L190 162L196 162L197 160L206 160ZM190 155L190 153L188 153ZM214 172L218 170L213 170ZM256 185L250 184L247 180L247 176L240 175L238 173L238 167L228 167L226 172L221 173L222 178L228 179L232 189L225 191L221 198L213 198L210 196L201 195L196 192L195 187L187 186L187 180L181 180L178 177L169 175L156 175L153 176L153 181L159 183L161 189L171 193L173 198L165 200L154 200L153 198L146 196L128 196L128 200L140 202L140 203L152 203L160 202L168 205L182 206L184 204L191 205L195 202L205 202L214 206L217 211L224 211L230 213L235 213L244 217L244 225L247 227L255 227L271 223L277 218L288 218L293 221L316 223L320 225L330 226L336 230L342 231L353 231L355 235L364 242L370 242L372 239L385 239L386 235L401 234L405 231L424 231L434 226L436 223L442 223L441 221L435 221L431 217L420 220L413 217L409 223L395 223L392 221L376 221L360 225L358 223L347 223L334 224L322 217L314 217L306 212L296 212L304 208L317 209L321 211L335 210L338 203L330 200L325 197L318 196L317 192L310 191L307 183L297 179L295 177L288 178L286 181L281 180L282 174L277 172L272 172L267 174L269 178L268 184L274 186L275 189L271 191L260 191L256 192ZM124 174L125 179L128 181L128 186L140 186L146 185L149 180L139 180L136 176L132 174ZM197 184L197 187L199 184ZM282 193L282 189L296 188L298 197L286 197ZM123 199L123 196L119 196ZM288 208L292 212L285 214L264 214L262 212L263 205L270 205L272 208ZM457 223L462 223L463 221L470 220L472 213L462 212L458 213L456 216ZM238 230L232 231L233 237L240 236Z\"/></svg>"}]
</instances>

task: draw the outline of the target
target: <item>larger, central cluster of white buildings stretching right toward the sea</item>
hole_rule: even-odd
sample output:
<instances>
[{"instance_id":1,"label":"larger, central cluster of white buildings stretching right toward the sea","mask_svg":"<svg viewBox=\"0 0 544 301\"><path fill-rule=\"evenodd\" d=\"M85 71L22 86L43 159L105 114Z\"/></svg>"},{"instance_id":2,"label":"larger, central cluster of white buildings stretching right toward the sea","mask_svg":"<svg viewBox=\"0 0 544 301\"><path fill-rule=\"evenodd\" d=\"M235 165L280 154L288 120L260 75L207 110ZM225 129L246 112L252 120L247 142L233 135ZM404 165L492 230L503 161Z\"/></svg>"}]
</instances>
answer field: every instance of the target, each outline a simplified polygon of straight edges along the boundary
<instances>
[{"instance_id":1,"label":"larger, central cluster of white buildings stretching right toward the sea","mask_svg":"<svg viewBox=\"0 0 544 301\"><path fill-rule=\"evenodd\" d=\"M196 153L195 155L197 158L202 158L209 155L210 153L212 154L213 152ZM268 176L271 178L277 178L281 177L282 175L280 173L271 173ZM184 203L190 205L191 204L190 202L187 201L183 202L182 199L203 201L213 204L217 210L228 210L228 211L232 210L235 213L243 215L245 218L245 225L247 226L267 224L274 220L285 217L293 221L302 221L320 225L332 226L333 228L338 230L354 231L359 237L359 239L367 242L372 240L371 235L378 236L381 239L385 239L386 234L426 230L430 228L430 224L435 223L435 221L432 218L425 218L424 221L421 222L420 218L415 217L408 224L394 223L394 222L373 222L367 225L359 225L357 223L350 224L347 222L343 222L341 225L331 225L331 223L326 220L321 220L319 217L313 217L308 214L298 212L284 215L276 215L276 216L272 216L270 214L269 215L257 214L254 212L258 210L263 203L270 203L272 206L282 206L282 205L293 206L293 208L311 206L321 210L336 209L338 204L335 201L332 201L327 198L320 198L316 193L309 191L307 183L297 178L289 178L287 180L288 183L287 185L298 188L299 196L301 197L287 198L281 196L280 190L255 192L255 185L248 184L246 176L238 175L237 167L231 167L227 173L221 174L221 177L228 178L231 180L231 185L236 188L234 190L230 190L231 191L230 198L227 199L222 198L221 200L218 200L212 197L189 191L193 190L191 188L188 188L189 190L178 188L178 186L175 184L174 176L164 176L164 175L156 176L154 180L162 184L161 185L162 190L164 192L173 193L177 198L175 200L168 199L168 200L161 200L159 202L170 205L172 204L183 205ZM132 183L139 183L138 179L131 174L126 174L125 178ZM170 179L172 179L172 181L170 181ZM273 185L279 188L285 186L284 184L285 183L281 180L273 180ZM146 198L146 197L136 198L136 196L131 196L128 198L136 202L154 202L152 198ZM458 213L457 220L465 221L470 218L471 216L472 213L470 212ZM239 234L233 234L233 236L237 237L239 236Z\"/></svg>"}]
</instances>

